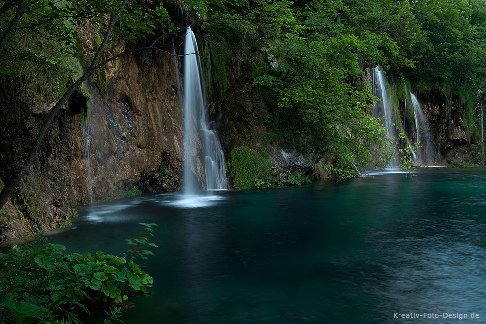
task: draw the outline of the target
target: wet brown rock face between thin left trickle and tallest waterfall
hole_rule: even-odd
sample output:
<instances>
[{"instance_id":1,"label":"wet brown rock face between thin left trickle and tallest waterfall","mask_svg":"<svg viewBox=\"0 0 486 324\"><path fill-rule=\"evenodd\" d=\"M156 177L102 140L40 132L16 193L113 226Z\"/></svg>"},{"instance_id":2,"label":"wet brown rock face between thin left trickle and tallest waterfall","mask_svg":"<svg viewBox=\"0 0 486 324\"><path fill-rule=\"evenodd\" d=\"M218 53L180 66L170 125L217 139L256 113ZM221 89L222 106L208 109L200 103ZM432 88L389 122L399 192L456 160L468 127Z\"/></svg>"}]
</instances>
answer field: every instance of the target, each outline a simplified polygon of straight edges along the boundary
<instances>
[{"instance_id":1,"label":"wet brown rock face between thin left trickle and tallest waterfall","mask_svg":"<svg viewBox=\"0 0 486 324\"><path fill-rule=\"evenodd\" d=\"M181 188L183 111L174 58L162 52L151 52L150 60L145 56L127 55L105 68L106 96L90 79L88 138L80 118L72 123L76 202L88 202L89 191L96 201L132 186L147 191Z\"/></svg>"}]
</instances>

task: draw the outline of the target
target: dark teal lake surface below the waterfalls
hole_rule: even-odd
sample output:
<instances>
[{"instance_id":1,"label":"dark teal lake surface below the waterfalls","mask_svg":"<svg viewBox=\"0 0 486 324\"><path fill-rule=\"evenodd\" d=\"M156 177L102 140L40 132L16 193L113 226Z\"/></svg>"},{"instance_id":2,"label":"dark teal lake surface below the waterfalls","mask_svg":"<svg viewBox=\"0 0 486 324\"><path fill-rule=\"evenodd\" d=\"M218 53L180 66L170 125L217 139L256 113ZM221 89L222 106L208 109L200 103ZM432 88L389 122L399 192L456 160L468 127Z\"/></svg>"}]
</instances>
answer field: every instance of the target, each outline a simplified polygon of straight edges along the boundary
<instances>
[{"instance_id":1,"label":"dark teal lake surface below the waterfalls","mask_svg":"<svg viewBox=\"0 0 486 324\"><path fill-rule=\"evenodd\" d=\"M79 208L52 242L118 253L138 222L159 225L151 295L125 323L485 322L486 171L415 175L142 195Z\"/></svg>"}]
</instances>

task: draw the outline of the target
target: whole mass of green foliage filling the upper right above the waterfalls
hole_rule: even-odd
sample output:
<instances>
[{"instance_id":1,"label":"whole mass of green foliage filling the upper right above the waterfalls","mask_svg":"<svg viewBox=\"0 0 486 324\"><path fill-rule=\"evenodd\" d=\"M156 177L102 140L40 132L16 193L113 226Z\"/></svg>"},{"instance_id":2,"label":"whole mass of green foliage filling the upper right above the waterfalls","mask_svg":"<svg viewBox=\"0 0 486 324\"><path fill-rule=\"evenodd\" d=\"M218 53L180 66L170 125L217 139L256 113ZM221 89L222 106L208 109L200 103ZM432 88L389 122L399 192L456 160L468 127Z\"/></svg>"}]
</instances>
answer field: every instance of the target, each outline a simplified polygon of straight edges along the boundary
<instances>
[{"instance_id":1,"label":"whole mass of green foliage filling the upper right above the waterfalls","mask_svg":"<svg viewBox=\"0 0 486 324\"><path fill-rule=\"evenodd\" d=\"M259 53L251 84L269 109L256 118L278 130L284 145L331 153L327 169L340 179L382 166L391 156L385 129L364 114L374 100L369 90L354 86L361 67L377 64L388 72L399 132L404 101L413 119L413 84L416 92L459 95L466 135L477 138L471 94L486 87L484 0L304 2L207 6L209 32L221 32L228 48ZM408 148L401 153L410 162ZM253 186L266 186L264 178L255 179ZM249 180L245 187L252 187Z\"/></svg>"}]
</instances>

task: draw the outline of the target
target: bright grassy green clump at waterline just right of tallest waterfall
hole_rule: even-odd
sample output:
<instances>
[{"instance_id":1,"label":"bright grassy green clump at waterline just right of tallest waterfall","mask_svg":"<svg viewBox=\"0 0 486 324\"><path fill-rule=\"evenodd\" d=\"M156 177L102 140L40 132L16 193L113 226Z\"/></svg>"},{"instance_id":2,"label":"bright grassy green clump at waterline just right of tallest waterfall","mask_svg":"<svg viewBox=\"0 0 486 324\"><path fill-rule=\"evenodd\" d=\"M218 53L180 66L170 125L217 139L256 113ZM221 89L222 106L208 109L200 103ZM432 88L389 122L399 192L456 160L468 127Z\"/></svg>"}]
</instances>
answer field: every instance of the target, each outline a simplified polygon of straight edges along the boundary
<instances>
[{"instance_id":1,"label":"bright grassy green clump at waterline just right of tallest waterfall","mask_svg":"<svg viewBox=\"0 0 486 324\"><path fill-rule=\"evenodd\" d=\"M266 148L234 148L227 169L234 181L234 187L238 189L254 189L255 185L261 188L266 182L272 182L270 153ZM261 179L262 182L257 179Z\"/></svg>"}]
</instances>

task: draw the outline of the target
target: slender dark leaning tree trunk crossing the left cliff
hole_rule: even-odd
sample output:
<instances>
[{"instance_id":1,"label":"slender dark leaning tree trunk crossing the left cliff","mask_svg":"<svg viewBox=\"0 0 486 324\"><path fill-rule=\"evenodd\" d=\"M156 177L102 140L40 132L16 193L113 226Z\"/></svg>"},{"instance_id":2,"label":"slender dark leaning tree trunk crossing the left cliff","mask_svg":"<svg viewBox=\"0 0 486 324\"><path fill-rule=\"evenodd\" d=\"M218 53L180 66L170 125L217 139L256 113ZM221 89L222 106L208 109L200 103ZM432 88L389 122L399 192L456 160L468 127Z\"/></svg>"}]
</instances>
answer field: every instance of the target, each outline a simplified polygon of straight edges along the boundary
<instances>
[{"instance_id":1,"label":"slender dark leaning tree trunk crossing the left cliff","mask_svg":"<svg viewBox=\"0 0 486 324\"><path fill-rule=\"evenodd\" d=\"M23 0L21 0L23 2ZM72 95L72 93L87 79L91 74L93 74L94 70L96 69L97 65L96 62L98 62L101 53L104 50L104 47L108 43L108 39L110 38L111 32L113 31L113 27L115 26L115 23L118 20L118 17L120 16L121 12L125 8L126 3L128 0L124 0L123 3L121 4L120 8L117 10L115 15L111 18L110 23L108 25L108 30L104 34L103 42L101 43L100 47L98 48L98 51L96 52L93 61L91 62L91 65L87 69L87 71L81 76L76 82L74 82L68 90L64 93L64 95L61 97L61 99L55 104L54 107L52 107L51 111L49 112L49 115L47 116L46 120L44 120L44 123L42 124L39 132L37 133L37 137L35 138L35 142L32 145L31 150L29 151L29 155L27 159L25 160L24 164L21 164L18 166L17 171L10 177L8 181L5 182L5 187L0 192L0 210L3 208L5 203L7 202L8 197L10 196L10 193L12 192L13 188L17 186L18 181L30 170L32 167L32 163L34 162L35 154L39 150L40 144L42 143L42 139L44 138L44 135L47 132L47 129L49 128L49 125L51 124L52 119L57 115L59 112L59 109L66 103L66 101L69 99L69 97ZM3 39L3 37L2 37Z\"/></svg>"}]
</instances>

